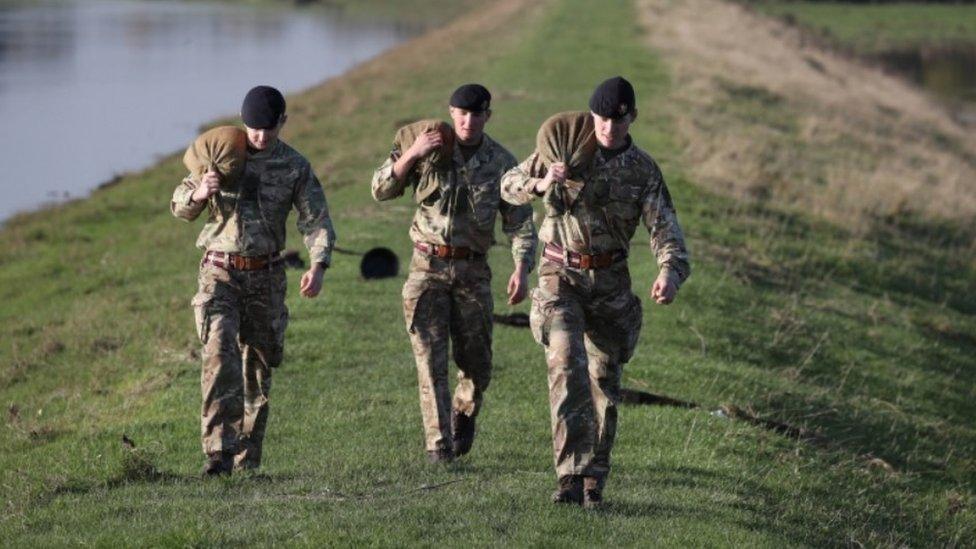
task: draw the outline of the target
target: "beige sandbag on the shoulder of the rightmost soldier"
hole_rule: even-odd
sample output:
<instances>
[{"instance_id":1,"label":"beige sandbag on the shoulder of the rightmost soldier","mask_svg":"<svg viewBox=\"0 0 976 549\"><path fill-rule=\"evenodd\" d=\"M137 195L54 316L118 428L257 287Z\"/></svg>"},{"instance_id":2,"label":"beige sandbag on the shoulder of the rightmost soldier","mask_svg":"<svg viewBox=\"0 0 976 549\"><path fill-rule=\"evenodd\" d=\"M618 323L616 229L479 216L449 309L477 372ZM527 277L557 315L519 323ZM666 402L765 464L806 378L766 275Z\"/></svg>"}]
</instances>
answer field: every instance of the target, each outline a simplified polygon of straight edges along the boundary
<instances>
[{"instance_id":1,"label":"beige sandbag on the shoulder of the rightmost soldier","mask_svg":"<svg viewBox=\"0 0 976 549\"><path fill-rule=\"evenodd\" d=\"M596 154L593 117L585 111L550 116L539 127L535 147L546 168L564 162L569 169L569 178L580 179L589 170Z\"/></svg>"}]
</instances>

